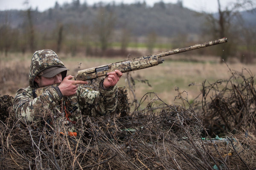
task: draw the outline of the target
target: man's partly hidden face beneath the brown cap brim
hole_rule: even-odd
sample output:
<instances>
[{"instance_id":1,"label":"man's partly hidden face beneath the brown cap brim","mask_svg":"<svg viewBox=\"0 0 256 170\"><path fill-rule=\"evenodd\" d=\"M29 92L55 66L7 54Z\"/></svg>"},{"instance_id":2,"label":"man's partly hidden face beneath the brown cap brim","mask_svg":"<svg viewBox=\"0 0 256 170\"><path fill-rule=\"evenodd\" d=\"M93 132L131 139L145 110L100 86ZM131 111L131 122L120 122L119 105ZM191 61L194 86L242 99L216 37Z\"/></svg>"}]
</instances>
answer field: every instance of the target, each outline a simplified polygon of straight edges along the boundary
<instances>
[{"instance_id":1,"label":"man's partly hidden face beneath the brown cap brim","mask_svg":"<svg viewBox=\"0 0 256 170\"><path fill-rule=\"evenodd\" d=\"M47 86L47 85L53 85L53 84L61 83L61 81L62 81L61 73L57 74L54 77L50 77L50 78L43 77L43 76L40 76L40 77L36 76L35 77L35 82L37 82L37 84L40 88L44 87L44 86Z\"/></svg>"}]
</instances>

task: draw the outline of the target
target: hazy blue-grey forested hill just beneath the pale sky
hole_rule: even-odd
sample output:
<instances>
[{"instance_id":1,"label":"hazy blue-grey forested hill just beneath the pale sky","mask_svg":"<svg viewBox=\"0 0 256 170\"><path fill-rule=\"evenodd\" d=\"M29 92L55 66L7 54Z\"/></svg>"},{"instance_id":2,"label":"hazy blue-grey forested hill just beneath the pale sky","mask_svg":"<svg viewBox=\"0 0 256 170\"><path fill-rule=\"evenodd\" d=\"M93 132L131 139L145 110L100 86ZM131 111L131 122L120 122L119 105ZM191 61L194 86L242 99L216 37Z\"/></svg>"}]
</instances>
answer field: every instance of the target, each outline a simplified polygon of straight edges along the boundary
<instances>
[{"instance_id":1,"label":"hazy blue-grey forested hill just beneath the pale sky","mask_svg":"<svg viewBox=\"0 0 256 170\"><path fill-rule=\"evenodd\" d=\"M56 3L53 8L44 12L32 10L32 20L36 30L44 34L56 29L58 24L62 24L65 28L93 30L101 7L113 13L115 30L126 28L133 36L146 36L152 32L160 37L199 34L206 15L184 8L182 3L160 1L152 7L145 3L119 5L96 3L88 6L75 0L63 6ZM241 12L247 26L256 26L256 15L252 11ZM0 11L0 26L8 22L12 28L23 28L26 20L26 11Z\"/></svg>"}]
</instances>

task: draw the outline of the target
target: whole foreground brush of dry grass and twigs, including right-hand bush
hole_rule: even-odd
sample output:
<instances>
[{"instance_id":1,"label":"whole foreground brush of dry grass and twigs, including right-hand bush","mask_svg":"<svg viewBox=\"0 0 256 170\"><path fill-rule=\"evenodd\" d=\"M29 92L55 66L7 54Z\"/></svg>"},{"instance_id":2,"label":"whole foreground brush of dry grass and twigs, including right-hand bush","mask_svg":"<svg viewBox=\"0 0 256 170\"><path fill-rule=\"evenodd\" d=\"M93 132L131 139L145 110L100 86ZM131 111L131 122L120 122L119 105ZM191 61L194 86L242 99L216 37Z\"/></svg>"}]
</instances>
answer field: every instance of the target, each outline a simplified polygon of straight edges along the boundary
<instances>
[{"instance_id":1,"label":"whole foreground brush of dry grass and twigs, including right-hand bush","mask_svg":"<svg viewBox=\"0 0 256 170\"><path fill-rule=\"evenodd\" d=\"M177 96L186 106L167 105L157 94L148 93L141 99L149 100L147 106L137 105L131 112L127 91L119 89L118 112L99 118L84 116L77 137L66 135L63 126L27 125L15 118L12 96L1 96L0 167L255 169L255 85L252 76L231 73L229 80L204 83L202 99L195 104ZM220 88L220 84L225 85Z\"/></svg>"}]
</instances>

